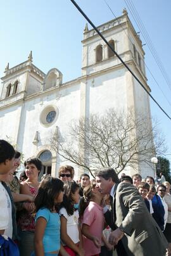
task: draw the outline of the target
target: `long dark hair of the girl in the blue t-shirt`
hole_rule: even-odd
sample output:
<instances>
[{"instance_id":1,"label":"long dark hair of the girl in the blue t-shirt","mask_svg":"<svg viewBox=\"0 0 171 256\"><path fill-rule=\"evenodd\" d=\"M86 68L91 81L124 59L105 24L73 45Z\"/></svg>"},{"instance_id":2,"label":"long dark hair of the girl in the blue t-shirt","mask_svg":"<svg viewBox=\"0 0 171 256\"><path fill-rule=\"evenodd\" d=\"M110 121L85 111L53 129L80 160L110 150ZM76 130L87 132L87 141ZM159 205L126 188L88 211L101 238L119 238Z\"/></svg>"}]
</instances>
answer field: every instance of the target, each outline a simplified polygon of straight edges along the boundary
<instances>
[{"instance_id":1,"label":"long dark hair of the girl in the blue t-shirt","mask_svg":"<svg viewBox=\"0 0 171 256\"><path fill-rule=\"evenodd\" d=\"M60 195L61 191L63 191L63 182L60 179L50 176L45 177L39 185L35 196L35 212L40 208L53 210L54 199Z\"/></svg>"}]
</instances>

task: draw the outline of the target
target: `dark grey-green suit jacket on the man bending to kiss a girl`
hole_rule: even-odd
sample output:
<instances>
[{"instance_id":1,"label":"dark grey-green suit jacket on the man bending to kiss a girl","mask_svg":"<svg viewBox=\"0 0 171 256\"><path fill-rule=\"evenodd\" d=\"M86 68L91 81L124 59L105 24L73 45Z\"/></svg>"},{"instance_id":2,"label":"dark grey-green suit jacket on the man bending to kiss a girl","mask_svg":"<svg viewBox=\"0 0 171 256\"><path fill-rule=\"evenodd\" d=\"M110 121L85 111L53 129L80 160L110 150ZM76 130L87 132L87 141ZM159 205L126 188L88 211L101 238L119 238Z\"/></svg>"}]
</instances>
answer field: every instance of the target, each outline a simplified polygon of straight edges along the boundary
<instances>
[{"instance_id":1,"label":"dark grey-green suit jacket on the man bending to kiss a girl","mask_svg":"<svg viewBox=\"0 0 171 256\"><path fill-rule=\"evenodd\" d=\"M112 221L113 218L113 221ZM122 244L130 256L163 256L168 247L160 227L149 214L137 188L127 182L115 184L113 214L108 210L106 222L124 231ZM115 229L115 227L114 227ZM125 256L125 255L118 255Z\"/></svg>"}]
</instances>

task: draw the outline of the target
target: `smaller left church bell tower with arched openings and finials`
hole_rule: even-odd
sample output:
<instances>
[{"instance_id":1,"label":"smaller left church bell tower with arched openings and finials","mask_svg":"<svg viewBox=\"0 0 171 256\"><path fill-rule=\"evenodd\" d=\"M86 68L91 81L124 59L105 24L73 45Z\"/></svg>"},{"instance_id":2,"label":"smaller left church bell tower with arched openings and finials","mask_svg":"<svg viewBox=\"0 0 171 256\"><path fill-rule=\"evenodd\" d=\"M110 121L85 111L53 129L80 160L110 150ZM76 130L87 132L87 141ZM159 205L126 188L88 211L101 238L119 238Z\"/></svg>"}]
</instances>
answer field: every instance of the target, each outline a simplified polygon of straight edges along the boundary
<instances>
[{"instance_id":1,"label":"smaller left church bell tower with arched openings and finials","mask_svg":"<svg viewBox=\"0 0 171 256\"><path fill-rule=\"evenodd\" d=\"M4 77L1 77L2 91L0 103L12 103L23 99L29 94L41 91L41 83L45 74L32 63L32 51L27 61L9 68L9 63L4 70Z\"/></svg>"}]
</instances>

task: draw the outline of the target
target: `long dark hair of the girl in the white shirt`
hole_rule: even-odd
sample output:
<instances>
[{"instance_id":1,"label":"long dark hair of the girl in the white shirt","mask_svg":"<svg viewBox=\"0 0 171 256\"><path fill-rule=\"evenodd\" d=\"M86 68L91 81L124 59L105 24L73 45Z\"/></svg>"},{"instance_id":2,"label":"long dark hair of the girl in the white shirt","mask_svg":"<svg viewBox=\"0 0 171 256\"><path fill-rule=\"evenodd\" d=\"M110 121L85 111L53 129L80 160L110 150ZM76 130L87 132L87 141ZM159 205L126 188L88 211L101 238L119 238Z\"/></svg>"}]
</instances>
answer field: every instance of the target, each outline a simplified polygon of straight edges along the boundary
<instances>
[{"instance_id":1,"label":"long dark hair of the girl in the white shirt","mask_svg":"<svg viewBox=\"0 0 171 256\"><path fill-rule=\"evenodd\" d=\"M72 199L72 194L79 189L80 186L75 181L66 181L63 189L64 189L64 195L63 195L63 203L61 203L60 208L64 207L66 209L66 212L68 215L73 215L74 212L74 202Z\"/></svg>"}]
</instances>

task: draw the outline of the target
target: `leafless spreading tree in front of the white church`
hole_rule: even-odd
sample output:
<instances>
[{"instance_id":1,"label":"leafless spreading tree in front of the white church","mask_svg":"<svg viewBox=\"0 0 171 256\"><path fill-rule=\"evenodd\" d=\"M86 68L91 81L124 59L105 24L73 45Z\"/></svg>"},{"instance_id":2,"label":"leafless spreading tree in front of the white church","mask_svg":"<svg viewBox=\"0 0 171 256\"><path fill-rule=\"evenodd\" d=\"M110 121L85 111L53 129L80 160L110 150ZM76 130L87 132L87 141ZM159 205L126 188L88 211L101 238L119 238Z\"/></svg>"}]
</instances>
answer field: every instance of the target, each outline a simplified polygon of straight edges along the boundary
<instances>
[{"instance_id":1,"label":"leafless spreading tree in front of the white church","mask_svg":"<svg viewBox=\"0 0 171 256\"><path fill-rule=\"evenodd\" d=\"M151 165L151 157L165 151L165 139L158 125L151 125L143 115L118 113L113 108L105 115L73 120L69 132L62 138L50 138L51 146L65 160L69 160L93 175L101 167L113 167L117 173L138 163Z\"/></svg>"}]
</instances>

